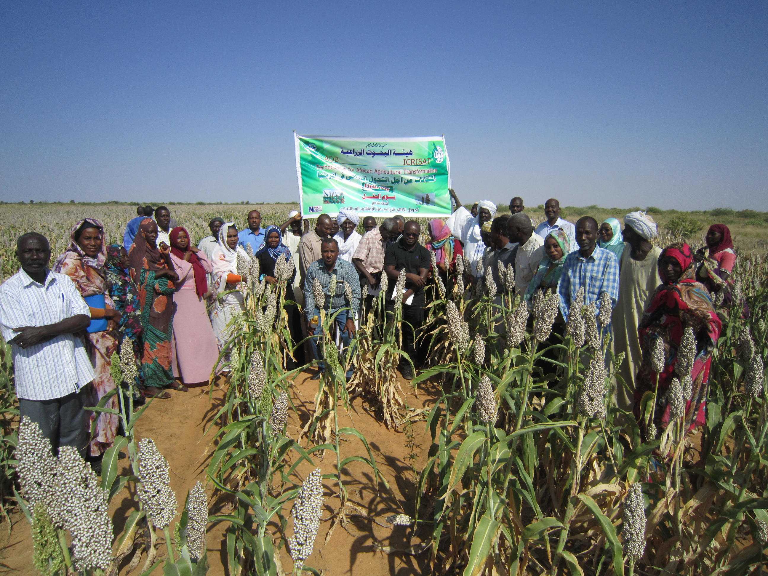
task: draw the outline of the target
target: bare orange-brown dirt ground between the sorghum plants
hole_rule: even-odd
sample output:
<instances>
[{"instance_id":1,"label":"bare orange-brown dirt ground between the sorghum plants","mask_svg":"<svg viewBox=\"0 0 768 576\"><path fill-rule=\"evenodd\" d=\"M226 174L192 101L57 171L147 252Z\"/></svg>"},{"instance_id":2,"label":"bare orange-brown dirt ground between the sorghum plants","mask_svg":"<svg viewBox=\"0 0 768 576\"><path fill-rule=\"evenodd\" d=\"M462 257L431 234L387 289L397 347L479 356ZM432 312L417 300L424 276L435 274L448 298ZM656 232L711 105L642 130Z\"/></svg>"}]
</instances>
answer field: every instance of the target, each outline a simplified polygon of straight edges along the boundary
<instances>
[{"instance_id":1,"label":"bare orange-brown dirt ground between the sorghum plants","mask_svg":"<svg viewBox=\"0 0 768 576\"><path fill-rule=\"evenodd\" d=\"M286 434L297 439L304 422L309 418L314 406L314 396L317 383L310 380L314 371L305 372L294 382L291 389L293 403L297 413L291 413L291 418L286 427ZM415 410L423 407L431 407L438 392L419 386L418 397L412 390L412 386L403 382L402 387L406 392L406 402ZM206 482L205 467L210 456L210 442L214 437L215 427L207 435L204 429L210 424L210 420L220 406L223 396L221 390L214 392L213 402L209 398L208 388L190 389L189 392L170 392L172 399L154 400L152 405L144 412L137 423L137 436L151 437L157 442L157 447L167 458L170 464L170 484L174 488L179 502L179 510L184 505L187 490L192 488L197 480ZM376 459L379 471L389 483L389 489L379 485L379 493L373 489L370 468L355 462L345 468L345 482L349 490L349 500L355 508L347 508L348 523L346 527L337 526L327 544L324 544L326 534L332 522L330 518L339 508L339 499L334 495L336 485L332 481L325 481L325 510L315 543L315 550L306 561L307 566L322 571L323 574L365 574L366 576L379 576L379 574L424 574L429 572L426 564L428 554L412 556L409 554L387 554L383 548L396 549L407 548L412 544L418 544L419 539L410 541L411 529L403 526L390 527L386 524L386 516L401 512L413 514L415 502L416 476L409 464L409 455L415 455L413 466L419 470L425 461L426 452L429 449L429 432L425 430L423 422L413 425L415 435L415 448L409 449L406 445L406 435L402 432L387 430L379 424L373 416L366 411L366 402L362 399L353 400L353 412L347 414L343 409L339 425L352 425L366 438ZM342 445L343 458L349 455L366 455L365 448L352 436L345 436ZM306 442L302 442L306 445ZM316 464L324 474L333 472L335 455L328 452L323 461ZM127 474L127 459L121 460L124 466L124 474ZM303 474L309 472L310 467L300 468ZM208 485L209 494L212 492ZM128 495L127 489L116 496L111 502L111 508L116 511L113 516L115 533L122 531L128 515L134 510L134 500ZM226 502L211 501L210 513L227 513ZM178 517L177 517L178 518ZM8 525L0 525L0 574L36 574L31 564L32 543L28 523L17 512L12 516L13 527L8 535ZM384 526L382 526L384 525ZM209 525L207 535L208 560L210 570L208 574L227 574L224 566L227 562L227 551L223 541L223 532L226 523ZM290 522L287 534L293 534L293 523ZM273 532L273 540L278 541ZM163 537L158 532L158 538ZM164 545L158 546L158 558L164 557ZM280 559L283 569L290 574L293 561L283 545L280 551ZM127 564L127 562L124 562ZM141 566L144 557L141 558L138 568L128 572L123 566L121 574L141 574ZM157 568L155 574L161 574L162 567Z\"/></svg>"}]
</instances>

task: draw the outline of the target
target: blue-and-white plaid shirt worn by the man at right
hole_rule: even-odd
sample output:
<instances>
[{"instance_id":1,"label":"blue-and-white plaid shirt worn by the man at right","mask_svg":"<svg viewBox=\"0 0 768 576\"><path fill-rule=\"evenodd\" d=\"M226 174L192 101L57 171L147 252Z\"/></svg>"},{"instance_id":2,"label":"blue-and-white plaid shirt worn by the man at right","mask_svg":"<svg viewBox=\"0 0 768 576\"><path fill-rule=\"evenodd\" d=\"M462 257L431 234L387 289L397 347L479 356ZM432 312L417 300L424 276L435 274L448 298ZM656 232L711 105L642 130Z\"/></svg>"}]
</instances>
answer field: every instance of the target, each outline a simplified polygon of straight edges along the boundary
<instances>
[{"instance_id":1,"label":"blue-and-white plaid shirt worn by the man at right","mask_svg":"<svg viewBox=\"0 0 768 576\"><path fill-rule=\"evenodd\" d=\"M568 319L568 308L582 286L584 304L594 302L599 312L600 295L607 292L611 296L611 306L615 307L619 298L619 265L616 255L598 246L586 258L578 250L568 254L558 283L560 311L564 319Z\"/></svg>"}]
</instances>

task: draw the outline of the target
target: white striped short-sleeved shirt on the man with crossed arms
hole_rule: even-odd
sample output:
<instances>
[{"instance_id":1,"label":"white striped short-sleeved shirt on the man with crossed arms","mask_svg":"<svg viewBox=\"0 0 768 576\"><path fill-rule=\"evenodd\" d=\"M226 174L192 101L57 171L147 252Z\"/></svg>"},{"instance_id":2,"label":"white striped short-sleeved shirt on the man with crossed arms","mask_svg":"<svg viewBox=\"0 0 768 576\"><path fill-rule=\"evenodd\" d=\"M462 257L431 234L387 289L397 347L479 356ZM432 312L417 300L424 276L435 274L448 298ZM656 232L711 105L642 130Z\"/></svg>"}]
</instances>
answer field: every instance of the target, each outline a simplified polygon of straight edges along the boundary
<instances>
[{"instance_id":1,"label":"white striped short-sleeved shirt on the man with crossed arms","mask_svg":"<svg viewBox=\"0 0 768 576\"><path fill-rule=\"evenodd\" d=\"M65 274L48 272L45 285L19 270L0 286L0 330L6 342L14 328L48 326L88 314L80 292ZM59 334L22 348L11 346L16 394L26 400L52 400L78 392L94 379L94 369L81 336Z\"/></svg>"}]
</instances>

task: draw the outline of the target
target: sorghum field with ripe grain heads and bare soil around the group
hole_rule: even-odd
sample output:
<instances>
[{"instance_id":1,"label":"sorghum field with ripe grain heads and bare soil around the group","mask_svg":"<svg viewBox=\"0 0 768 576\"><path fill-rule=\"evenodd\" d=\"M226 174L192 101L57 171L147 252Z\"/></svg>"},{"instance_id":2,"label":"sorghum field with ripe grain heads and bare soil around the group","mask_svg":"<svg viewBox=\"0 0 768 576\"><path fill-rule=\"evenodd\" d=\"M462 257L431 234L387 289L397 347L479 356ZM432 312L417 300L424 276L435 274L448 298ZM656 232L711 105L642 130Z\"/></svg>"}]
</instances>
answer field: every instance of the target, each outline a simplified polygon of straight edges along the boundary
<instances>
[{"instance_id":1,"label":"sorghum field with ripe grain heads and bare soil around the group","mask_svg":"<svg viewBox=\"0 0 768 576\"><path fill-rule=\"evenodd\" d=\"M169 207L195 242L210 217L243 223L255 207L264 223L280 223L293 208ZM629 210L566 207L562 215L599 221ZM540 208L528 211L543 217ZM561 342L542 344L554 300L538 300L526 330L528 309L512 296L509 277L481 290L464 290L461 276L447 286L432 280L428 362L412 382L396 372L401 311L382 323L365 310L347 355L349 383L330 333L323 379L287 369L300 343L283 312L286 276L274 290L249 280L247 310L223 351L231 376L144 409L121 397L123 435L101 478L77 455L46 455L34 427L18 433L2 349L3 567L369 576L766 571L766 214L649 211L664 230L661 245L687 238L700 247L708 224L721 222L739 255L707 424L695 433L682 435L674 424L644 438L612 400L621 358L607 331L594 323L590 330L591 314L574 310L574 323L586 320L591 336L568 329ZM82 217L101 220L108 241L120 242L134 215L125 204L0 205L2 276L17 269L21 233L44 233L55 257ZM258 278L250 262L242 268ZM381 296L374 308L383 308ZM114 356L125 386L134 369L130 350ZM121 451L127 458L118 459Z\"/></svg>"}]
</instances>

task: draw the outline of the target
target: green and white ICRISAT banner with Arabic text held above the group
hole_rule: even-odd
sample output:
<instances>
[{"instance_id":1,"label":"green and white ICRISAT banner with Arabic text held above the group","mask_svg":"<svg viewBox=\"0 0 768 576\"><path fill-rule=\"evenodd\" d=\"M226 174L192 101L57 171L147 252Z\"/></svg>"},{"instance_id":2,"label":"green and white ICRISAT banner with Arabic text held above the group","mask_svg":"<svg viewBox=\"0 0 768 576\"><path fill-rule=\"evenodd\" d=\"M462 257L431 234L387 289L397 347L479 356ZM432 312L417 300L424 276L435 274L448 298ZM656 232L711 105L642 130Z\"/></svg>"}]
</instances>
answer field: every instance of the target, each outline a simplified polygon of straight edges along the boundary
<instances>
[{"instance_id":1,"label":"green and white ICRISAT banner with Arabic text held above the group","mask_svg":"<svg viewBox=\"0 0 768 576\"><path fill-rule=\"evenodd\" d=\"M296 144L301 214L438 218L451 214L443 137L300 136Z\"/></svg>"}]
</instances>

